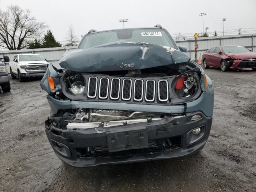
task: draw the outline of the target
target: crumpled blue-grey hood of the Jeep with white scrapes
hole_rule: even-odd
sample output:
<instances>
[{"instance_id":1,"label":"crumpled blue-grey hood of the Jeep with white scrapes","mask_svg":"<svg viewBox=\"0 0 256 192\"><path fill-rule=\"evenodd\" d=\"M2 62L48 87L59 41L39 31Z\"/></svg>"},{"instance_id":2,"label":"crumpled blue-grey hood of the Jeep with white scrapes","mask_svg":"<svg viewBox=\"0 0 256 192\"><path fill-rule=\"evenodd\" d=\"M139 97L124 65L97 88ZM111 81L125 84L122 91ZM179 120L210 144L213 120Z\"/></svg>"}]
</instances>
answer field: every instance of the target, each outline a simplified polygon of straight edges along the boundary
<instances>
[{"instance_id":1,"label":"crumpled blue-grey hood of the Jeep with white scrapes","mask_svg":"<svg viewBox=\"0 0 256 192\"><path fill-rule=\"evenodd\" d=\"M62 68L77 72L136 70L188 62L190 57L171 47L144 42L116 42L64 55Z\"/></svg>"}]
</instances>

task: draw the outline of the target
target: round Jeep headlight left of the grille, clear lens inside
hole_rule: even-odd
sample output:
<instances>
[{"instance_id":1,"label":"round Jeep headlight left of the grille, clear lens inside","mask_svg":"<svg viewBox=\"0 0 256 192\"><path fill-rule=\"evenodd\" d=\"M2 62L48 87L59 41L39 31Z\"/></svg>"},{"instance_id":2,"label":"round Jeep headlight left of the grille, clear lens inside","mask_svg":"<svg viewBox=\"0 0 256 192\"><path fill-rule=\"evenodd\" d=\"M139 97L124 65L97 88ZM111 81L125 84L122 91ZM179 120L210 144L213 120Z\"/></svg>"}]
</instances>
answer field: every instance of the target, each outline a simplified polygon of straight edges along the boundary
<instances>
[{"instance_id":1,"label":"round Jeep headlight left of the grille, clear lens inside","mask_svg":"<svg viewBox=\"0 0 256 192\"><path fill-rule=\"evenodd\" d=\"M78 94L81 94L82 92L84 92L85 80L82 75L77 74L77 73L67 74L65 81L66 81L68 90L72 94L78 95Z\"/></svg>"}]
</instances>

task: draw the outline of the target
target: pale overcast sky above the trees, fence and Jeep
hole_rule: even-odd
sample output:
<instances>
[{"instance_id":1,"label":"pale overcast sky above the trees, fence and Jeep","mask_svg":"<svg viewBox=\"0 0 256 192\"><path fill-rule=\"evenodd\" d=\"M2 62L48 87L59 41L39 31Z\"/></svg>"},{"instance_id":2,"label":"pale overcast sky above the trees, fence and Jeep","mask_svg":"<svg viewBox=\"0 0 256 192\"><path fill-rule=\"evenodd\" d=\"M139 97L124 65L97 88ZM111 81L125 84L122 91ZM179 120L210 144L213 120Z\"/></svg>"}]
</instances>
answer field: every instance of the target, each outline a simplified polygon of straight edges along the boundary
<instances>
[{"instance_id":1,"label":"pale overcast sky above the trees, fence and Jeep","mask_svg":"<svg viewBox=\"0 0 256 192\"><path fill-rule=\"evenodd\" d=\"M256 33L256 0L0 0L0 9L9 4L30 9L39 21L45 21L55 38L63 42L68 26L73 25L80 37L90 29L122 28L118 19L128 19L126 28L152 27L161 24L171 34L194 34L222 31L222 18L226 18L225 31ZM236 33L237 34L237 33Z\"/></svg>"}]
</instances>

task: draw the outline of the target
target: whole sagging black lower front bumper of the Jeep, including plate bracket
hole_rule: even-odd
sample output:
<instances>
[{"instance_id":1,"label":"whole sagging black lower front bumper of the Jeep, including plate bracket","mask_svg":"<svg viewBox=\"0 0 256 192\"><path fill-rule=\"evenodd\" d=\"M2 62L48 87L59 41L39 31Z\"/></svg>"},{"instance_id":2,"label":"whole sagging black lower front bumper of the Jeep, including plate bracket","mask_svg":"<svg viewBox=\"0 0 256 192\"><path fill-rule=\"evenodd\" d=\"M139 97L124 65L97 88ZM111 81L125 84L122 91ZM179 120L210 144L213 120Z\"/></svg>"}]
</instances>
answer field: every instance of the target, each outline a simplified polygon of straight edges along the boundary
<instances>
[{"instance_id":1,"label":"whole sagging black lower front bumper of the Jeep, including plate bracket","mask_svg":"<svg viewBox=\"0 0 256 192\"><path fill-rule=\"evenodd\" d=\"M211 125L212 117L193 112L103 128L62 130L52 123L46 134L62 161L84 167L187 156L204 147Z\"/></svg>"}]
</instances>

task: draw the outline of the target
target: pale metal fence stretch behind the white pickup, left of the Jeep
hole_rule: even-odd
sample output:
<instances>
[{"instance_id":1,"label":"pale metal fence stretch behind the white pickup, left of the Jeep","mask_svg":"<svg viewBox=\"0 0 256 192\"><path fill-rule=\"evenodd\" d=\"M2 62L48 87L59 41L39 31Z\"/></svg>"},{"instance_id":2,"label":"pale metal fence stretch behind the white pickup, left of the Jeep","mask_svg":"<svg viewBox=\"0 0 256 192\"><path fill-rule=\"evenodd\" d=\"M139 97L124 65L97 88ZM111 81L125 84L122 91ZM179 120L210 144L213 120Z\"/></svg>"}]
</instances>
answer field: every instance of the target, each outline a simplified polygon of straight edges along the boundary
<instances>
[{"instance_id":1,"label":"pale metal fence stretch behind the white pickup, left of the Jeep","mask_svg":"<svg viewBox=\"0 0 256 192\"><path fill-rule=\"evenodd\" d=\"M13 50L13 51L0 51L0 57L8 56L10 61L13 60L14 55L16 54L24 54L24 53L33 53L33 54L40 54L49 63L52 63L54 66L58 66L58 61L63 56L66 50L76 49L77 47L54 47L54 48L40 48L40 49L24 49L24 50ZM10 73L9 64L6 64L7 70Z\"/></svg>"}]
</instances>

